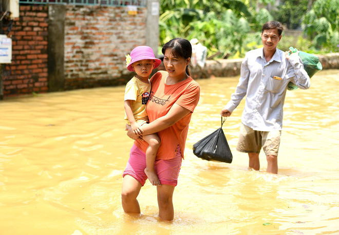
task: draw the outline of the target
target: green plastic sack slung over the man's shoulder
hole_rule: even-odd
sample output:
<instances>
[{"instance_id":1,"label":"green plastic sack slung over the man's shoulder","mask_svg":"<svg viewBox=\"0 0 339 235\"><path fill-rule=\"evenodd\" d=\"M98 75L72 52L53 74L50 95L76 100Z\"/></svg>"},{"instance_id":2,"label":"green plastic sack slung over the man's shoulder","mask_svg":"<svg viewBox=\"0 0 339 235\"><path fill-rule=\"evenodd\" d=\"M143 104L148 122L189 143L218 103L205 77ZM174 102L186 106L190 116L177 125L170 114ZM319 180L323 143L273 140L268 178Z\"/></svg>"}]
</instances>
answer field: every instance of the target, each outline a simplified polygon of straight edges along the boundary
<instances>
[{"instance_id":1,"label":"green plastic sack slung over the man's shoulder","mask_svg":"<svg viewBox=\"0 0 339 235\"><path fill-rule=\"evenodd\" d=\"M290 47L291 53L297 52L297 49ZM304 64L304 69L307 72L308 76L311 78L316 72L323 69L322 63L319 61L319 58L315 55L299 51L299 57L302 59ZM287 85L287 90L296 90L298 87L293 82L289 82Z\"/></svg>"}]
</instances>

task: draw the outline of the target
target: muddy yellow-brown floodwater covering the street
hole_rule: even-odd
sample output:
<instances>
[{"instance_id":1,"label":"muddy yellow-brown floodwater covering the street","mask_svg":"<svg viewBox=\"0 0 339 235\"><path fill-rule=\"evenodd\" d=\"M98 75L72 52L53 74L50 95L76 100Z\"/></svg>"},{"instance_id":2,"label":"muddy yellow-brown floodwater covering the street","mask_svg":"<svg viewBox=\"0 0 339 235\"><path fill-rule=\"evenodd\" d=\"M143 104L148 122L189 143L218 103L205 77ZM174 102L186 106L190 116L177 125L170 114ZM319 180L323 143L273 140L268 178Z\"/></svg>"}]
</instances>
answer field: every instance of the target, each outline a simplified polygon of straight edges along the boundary
<instances>
[{"instance_id":1,"label":"muddy yellow-brown floodwater covering the street","mask_svg":"<svg viewBox=\"0 0 339 235\"><path fill-rule=\"evenodd\" d=\"M243 102L223 125L231 164L192 145L220 126L238 78L201 79L179 183L175 219L158 220L156 188L139 195L142 215L121 207L133 143L124 132L124 87L49 93L0 102L1 234L338 234L339 71L288 91L279 174L248 170L235 151Z\"/></svg>"}]
</instances>

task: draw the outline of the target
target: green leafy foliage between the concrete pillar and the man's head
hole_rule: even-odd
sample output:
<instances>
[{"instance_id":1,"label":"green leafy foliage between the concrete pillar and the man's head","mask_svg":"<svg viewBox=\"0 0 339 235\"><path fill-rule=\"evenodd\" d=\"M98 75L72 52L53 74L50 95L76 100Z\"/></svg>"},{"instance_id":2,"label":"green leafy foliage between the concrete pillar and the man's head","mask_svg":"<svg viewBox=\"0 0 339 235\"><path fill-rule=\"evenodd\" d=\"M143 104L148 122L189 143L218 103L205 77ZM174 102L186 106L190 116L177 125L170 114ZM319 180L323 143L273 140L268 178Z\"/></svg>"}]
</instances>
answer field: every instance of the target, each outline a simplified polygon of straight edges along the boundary
<instances>
[{"instance_id":1,"label":"green leafy foliage between the concrete pillar and the man's head","mask_svg":"<svg viewBox=\"0 0 339 235\"><path fill-rule=\"evenodd\" d=\"M208 48L208 55L218 52L220 57L241 57L257 46L247 40L249 33L273 19L266 9L255 12L255 6L251 7L250 3L248 0L161 1L160 45L174 37L198 38Z\"/></svg>"}]
</instances>

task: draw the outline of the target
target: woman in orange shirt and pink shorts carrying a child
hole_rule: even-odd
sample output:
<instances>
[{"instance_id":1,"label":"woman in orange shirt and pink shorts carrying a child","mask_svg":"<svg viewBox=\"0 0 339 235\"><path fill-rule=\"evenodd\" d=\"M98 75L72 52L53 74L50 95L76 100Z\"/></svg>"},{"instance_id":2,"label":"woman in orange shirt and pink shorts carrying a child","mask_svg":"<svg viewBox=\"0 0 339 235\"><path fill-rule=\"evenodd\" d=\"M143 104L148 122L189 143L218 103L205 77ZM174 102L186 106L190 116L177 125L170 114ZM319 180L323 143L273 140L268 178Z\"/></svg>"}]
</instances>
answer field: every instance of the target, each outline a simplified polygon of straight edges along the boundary
<instances>
[{"instance_id":1,"label":"woman in orange shirt and pink shorts carrying a child","mask_svg":"<svg viewBox=\"0 0 339 235\"><path fill-rule=\"evenodd\" d=\"M157 72L151 79L152 91L146 105L149 124L142 126L143 135L158 133L161 144L155 160L159 217L165 221L174 218L173 192L178 182L187 132L192 113L200 96L199 84L190 77L188 69L192 46L190 41L174 38L162 48L166 71ZM127 135L135 139L123 173L122 207L126 213L141 213L137 200L147 177L145 151L147 142L126 126Z\"/></svg>"}]
</instances>

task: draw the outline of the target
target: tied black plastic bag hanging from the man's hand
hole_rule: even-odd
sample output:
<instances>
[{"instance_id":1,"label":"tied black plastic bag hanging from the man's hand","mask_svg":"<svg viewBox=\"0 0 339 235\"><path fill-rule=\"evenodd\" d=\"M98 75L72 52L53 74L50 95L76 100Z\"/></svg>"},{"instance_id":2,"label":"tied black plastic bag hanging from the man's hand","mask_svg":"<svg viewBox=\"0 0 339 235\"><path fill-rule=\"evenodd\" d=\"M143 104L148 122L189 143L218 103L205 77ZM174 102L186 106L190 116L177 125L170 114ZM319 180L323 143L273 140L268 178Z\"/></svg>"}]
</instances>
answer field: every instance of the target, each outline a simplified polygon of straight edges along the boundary
<instances>
[{"instance_id":1,"label":"tied black plastic bag hanging from the man's hand","mask_svg":"<svg viewBox=\"0 0 339 235\"><path fill-rule=\"evenodd\" d=\"M221 127L225 120L221 117ZM208 161L232 162L231 149L221 127L193 145L194 155Z\"/></svg>"}]
</instances>

